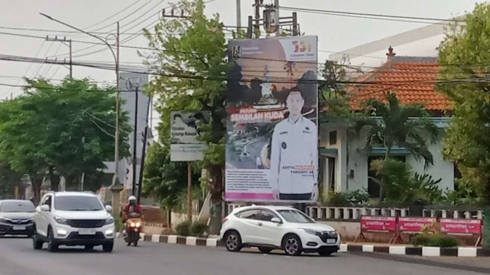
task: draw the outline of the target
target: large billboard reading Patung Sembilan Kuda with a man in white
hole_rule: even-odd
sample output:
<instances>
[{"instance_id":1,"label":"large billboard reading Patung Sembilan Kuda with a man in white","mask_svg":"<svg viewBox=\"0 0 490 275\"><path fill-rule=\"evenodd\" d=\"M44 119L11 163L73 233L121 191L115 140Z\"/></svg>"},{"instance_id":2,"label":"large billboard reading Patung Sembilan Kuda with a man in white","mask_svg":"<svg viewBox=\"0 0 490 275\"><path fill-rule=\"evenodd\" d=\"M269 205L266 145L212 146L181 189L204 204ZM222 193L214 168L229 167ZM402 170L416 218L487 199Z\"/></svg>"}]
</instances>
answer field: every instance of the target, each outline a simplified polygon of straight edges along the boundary
<instances>
[{"instance_id":1,"label":"large billboard reading Patung Sembilan Kuda with a man in white","mask_svg":"<svg viewBox=\"0 0 490 275\"><path fill-rule=\"evenodd\" d=\"M316 201L317 37L228 45L226 200Z\"/></svg>"}]
</instances>

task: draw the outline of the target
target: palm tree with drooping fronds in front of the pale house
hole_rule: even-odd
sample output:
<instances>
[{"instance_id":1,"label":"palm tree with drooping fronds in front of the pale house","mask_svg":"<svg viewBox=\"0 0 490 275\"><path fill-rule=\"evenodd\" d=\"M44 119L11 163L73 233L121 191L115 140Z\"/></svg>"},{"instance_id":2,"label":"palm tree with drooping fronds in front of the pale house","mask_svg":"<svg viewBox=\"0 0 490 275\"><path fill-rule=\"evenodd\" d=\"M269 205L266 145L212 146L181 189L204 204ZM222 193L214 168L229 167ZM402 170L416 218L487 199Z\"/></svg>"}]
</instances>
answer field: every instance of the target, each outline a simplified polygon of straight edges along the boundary
<instances>
[{"instance_id":1,"label":"palm tree with drooping fronds in front of the pale house","mask_svg":"<svg viewBox=\"0 0 490 275\"><path fill-rule=\"evenodd\" d=\"M384 160L391 157L394 147L405 148L417 161L424 161L424 168L434 164L430 144L437 139L437 126L423 105L400 104L395 94L387 94L386 103L371 98L362 104L366 116L357 119L356 131L367 128L366 148L386 148ZM383 198L383 182L380 184L380 200Z\"/></svg>"}]
</instances>

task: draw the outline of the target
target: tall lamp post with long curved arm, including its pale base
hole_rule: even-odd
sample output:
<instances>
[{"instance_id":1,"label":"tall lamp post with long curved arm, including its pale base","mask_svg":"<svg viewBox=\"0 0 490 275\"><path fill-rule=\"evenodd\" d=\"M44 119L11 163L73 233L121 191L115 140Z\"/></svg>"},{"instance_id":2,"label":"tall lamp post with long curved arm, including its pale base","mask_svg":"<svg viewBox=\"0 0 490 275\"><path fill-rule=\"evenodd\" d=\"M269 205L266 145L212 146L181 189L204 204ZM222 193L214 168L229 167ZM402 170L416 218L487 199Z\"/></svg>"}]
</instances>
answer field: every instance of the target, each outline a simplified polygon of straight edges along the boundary
<instances>
[{"instance_id":1,"label":"tall lamp post with long curved arm, including its pale base","mask_svg":"<svg viewBox=\"0 0 490 275\"><path fill-rule=\"evenodd\" d=\"M120 95L119 95L119 22L117 22L117 35L116 35L116 53L114 53L114 50L112 50L111 45L103 38L94 35L90 32L87 32L83 29L79 29L77 27L74 27L70 24L67 24L65 22L62 22L58 19L55 19L47 14L44 13L39 13L40 15L58 22L62 25L65 25L69 28L72 28L74 30L77 30L79 32L85 33L87 35L90 35L94 38L99 39L102 41L104 44L107 45L109 50L112 53L112 57L114 58L114 63L115 63L115 71L116 71L116 121L115 121L115 134L114 134L114 176L112 178L112 185L111 185L111 191L113 191L112 194L112 208L114 209L114 213L117 213L116 211L119 210L119 192L122 190L122 187L119 183L119 103L120 103Z\"/></svg>"}]
</instances>

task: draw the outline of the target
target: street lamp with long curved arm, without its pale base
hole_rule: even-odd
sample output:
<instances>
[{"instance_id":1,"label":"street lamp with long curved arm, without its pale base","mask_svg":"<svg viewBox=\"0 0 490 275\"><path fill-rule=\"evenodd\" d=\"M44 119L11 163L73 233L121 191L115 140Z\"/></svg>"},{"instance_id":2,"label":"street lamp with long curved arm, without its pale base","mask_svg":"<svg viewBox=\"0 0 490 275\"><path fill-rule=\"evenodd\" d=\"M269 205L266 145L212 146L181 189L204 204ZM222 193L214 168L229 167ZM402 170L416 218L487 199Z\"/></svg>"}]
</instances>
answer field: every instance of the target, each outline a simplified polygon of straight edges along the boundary
<instances>
[{"instance_id":1,"label":"street lamp with long curved arm, without its pale base","mask_svg":"<svg viewBox=\"0 0 490 275\"><path fill-rule=\"evenodd\" d=\"M117 55L114 53L114 51L112 50L112 47L111 45L103 38L97 36L97 35L94 35L90 32L87 32L83 29L79 29L77 27L74 27L72 25L69 25L65 22L62 22L60 20L57 20L47 14L44 14L44 13L39 13L40 15L50 19L50 20L53 20L55 22L58 22L62 25L65 25L69 28L72 28L72 29L75 29L79 32L83 32L85 34L88 34L92 37L95 37L99 40L101 40L102 42L104 42L104 44L107 45L107 47L109 48L109 50L111 51L112 53L112 56L114 57L114 63L115 63L115 69L116 69L116 125L115 125L115 141L114 141L114 177L112 178L112 186L111 187L119 187L120 183L119 183L119 98L120 98L120 95L119 95L119 22L117 22L117 36L116 36L116 51L117 51ZM114 208L114 206L113 206ZM115 209L115 208L114 208Z\"/></svg>"}]
</instances>

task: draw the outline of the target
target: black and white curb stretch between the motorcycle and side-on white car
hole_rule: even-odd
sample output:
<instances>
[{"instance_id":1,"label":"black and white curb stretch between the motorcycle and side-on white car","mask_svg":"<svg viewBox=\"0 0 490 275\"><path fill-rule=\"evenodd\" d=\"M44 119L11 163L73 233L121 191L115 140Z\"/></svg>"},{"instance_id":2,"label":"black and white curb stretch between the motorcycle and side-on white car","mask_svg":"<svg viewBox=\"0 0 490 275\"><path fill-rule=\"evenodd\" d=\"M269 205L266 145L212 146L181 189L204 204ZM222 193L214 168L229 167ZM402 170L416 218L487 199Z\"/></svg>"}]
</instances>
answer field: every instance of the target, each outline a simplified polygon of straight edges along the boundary
<instances>
[{"instance_id":1,"label":"black and white curb stretch between the motorcycle and side-on white car","mask_svg":"<svg viewBox=\"0 0 490 275\"><path fill-rule=\"evenodd\" d=\"M120 233L116 233L116 238L121 238ZM140 233L140 241L163 243L163 244L181 244L188 246L207 246L218 247L221 246L221 242L216 238L197 238L197 237L184 237L177 235L148 235Z\"/></svg>"}]
</instances>

